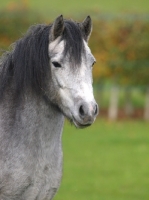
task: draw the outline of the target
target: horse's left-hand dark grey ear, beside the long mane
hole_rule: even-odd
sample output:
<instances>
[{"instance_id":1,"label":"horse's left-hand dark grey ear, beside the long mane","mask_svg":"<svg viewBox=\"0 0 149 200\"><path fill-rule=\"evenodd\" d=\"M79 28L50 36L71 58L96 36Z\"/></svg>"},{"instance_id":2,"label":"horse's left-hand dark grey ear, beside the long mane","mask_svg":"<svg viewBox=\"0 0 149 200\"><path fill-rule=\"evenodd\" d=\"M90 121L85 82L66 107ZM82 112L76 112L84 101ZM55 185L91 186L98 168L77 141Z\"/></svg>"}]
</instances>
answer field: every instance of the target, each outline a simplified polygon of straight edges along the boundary
<instances>
[{"instance_id":1,"label":"horse's left-hand dark grey ear, beside the long mane","mask_svg":"<svg viewBox=\"0 0 149 200\"><path fill-rule=\"evenodd\" d=\"M52 25L52 41L55 40L57 37L61 36L64 31L64 20L63 15L60 15L56 18Z\"/></svg>"}]
</instances>

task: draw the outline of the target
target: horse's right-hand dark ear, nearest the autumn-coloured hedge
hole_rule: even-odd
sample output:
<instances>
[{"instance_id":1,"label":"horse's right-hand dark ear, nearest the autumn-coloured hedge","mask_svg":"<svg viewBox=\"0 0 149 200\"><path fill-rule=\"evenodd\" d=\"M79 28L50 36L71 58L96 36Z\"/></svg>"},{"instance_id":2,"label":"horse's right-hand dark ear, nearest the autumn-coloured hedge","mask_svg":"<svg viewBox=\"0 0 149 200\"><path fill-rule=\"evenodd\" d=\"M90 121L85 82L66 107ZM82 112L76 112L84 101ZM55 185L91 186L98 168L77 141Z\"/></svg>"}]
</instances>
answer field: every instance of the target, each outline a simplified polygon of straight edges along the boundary
<instances>
[{"instance_id":1,"label":"horse's right-hand dark ear, nearest the autumn-coloured hedge","mask_svg":"<svg viewBox=\"0 0 149 200\"><path fill-rule=\"evenodd\" d=\"M82 30L84 39L88 42L92 32L92 20L90 16L87 16L85 20L82 23L80 23L80 28Z\"/></svg>"}]
</instances>

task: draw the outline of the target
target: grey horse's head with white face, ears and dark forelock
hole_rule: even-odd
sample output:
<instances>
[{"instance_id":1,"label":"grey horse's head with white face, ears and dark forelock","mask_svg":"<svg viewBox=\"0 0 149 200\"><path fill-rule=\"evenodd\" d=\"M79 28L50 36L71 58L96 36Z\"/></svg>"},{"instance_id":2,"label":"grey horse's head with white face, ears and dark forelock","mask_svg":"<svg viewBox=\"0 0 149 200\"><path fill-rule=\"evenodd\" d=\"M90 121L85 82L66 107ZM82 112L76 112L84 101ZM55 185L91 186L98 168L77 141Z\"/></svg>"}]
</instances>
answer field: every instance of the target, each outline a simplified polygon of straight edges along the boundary
<instances>
[{"instance_id":1,"label":"grey horse's head with white face, ears and dark forelock","mask_svg":"<svg viewBox=\"0 0 149 200\"><path fill-rule=\"evenodd\" d=\"M47 95L79 128L91 125L98 114L92 87L96 60L88 47L91 31L89 16L82 23L76 23L64 20L61 15L54 21L49 35L52 81Z\"/></svg>"}]
</instances>

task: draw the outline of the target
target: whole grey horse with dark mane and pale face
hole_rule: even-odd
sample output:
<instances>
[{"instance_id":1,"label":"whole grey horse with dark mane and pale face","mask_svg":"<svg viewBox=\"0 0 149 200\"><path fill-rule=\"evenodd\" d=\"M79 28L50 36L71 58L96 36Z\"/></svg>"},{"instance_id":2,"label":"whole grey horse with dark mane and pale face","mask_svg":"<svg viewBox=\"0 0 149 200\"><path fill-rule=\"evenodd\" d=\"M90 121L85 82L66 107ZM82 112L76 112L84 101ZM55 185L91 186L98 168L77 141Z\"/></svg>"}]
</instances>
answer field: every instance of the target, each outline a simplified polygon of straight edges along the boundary
<instances>
[{"instance_id":1,"label":"whole grey horse with dark mane and pale face","mask_svg":"<svg viewBox=\"0 0 149 200\"><path fill-rule=\"evenodd\" d=\"M0 199L51 200L62 177L62 129L98 114L92 21L31 26L0 59Z\"/></svg>"}]
</instances>

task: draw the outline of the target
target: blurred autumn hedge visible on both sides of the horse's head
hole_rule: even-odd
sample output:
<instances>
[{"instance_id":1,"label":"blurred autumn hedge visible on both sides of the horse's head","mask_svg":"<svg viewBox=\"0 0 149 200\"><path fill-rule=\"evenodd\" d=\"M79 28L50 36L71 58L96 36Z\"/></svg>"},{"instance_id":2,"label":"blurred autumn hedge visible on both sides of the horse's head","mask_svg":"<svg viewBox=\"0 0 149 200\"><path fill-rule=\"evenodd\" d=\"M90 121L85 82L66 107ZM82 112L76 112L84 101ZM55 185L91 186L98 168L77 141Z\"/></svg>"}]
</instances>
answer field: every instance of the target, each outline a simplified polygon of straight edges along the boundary
<instances>
[{"instance_id":1,"label":"blurred autumn hedge visible on both sides of the horse's head","mask_svg":"<svg viewBox=\"0 0 149 200\"><path fill-rule=\"evenodd\" d=\"M43 21L26 9L0 11L0 49L8 49L30 25ZM149 85L149 16L98 14L93 24L89 45L97 59L95 82Z\"/></svg>"}]
</instances>

